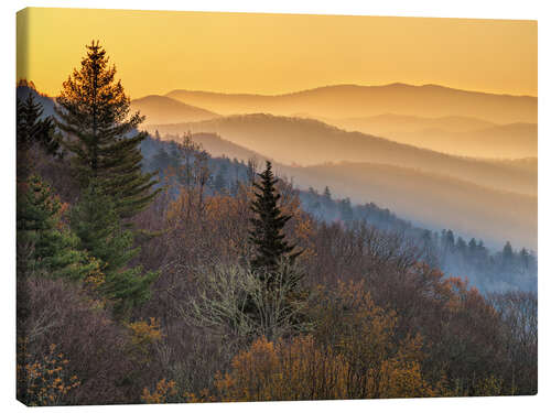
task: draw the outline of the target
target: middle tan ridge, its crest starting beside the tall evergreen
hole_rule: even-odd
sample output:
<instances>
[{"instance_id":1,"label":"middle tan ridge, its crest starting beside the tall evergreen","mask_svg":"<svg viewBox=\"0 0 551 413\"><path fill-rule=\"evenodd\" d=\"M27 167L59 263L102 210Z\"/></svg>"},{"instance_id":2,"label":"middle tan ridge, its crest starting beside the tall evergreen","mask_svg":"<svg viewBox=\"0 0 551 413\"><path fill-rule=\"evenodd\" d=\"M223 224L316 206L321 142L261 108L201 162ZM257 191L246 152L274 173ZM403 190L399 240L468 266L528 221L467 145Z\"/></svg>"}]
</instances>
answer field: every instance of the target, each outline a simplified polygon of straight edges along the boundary
<instances>
[{"instance_id":1,"label":"middle tan ridge, its crest starting beside the tall evergreen","mask_svg":"<svg viewBox=\"0 0 551 413\"><path fill-rule=\"evenodd\" d=\"M147 126L145 129L173 135L187 131L217 133L287 165L309 166L341 161L388 164L447 175L499 191L529 195L538 191L534 171L447 155L360 132L346 132L312 119L255 113L202 122Z\"/></svg>"}]
</instances>

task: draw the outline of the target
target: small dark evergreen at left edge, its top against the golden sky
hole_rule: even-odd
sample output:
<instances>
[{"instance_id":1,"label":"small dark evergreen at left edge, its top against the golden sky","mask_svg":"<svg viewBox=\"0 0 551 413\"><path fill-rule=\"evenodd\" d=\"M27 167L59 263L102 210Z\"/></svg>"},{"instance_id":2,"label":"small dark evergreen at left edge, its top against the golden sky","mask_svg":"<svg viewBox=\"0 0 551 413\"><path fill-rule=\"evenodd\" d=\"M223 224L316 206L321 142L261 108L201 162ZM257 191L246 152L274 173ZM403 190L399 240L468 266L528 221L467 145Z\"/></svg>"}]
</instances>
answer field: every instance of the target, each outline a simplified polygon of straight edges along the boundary
<instances>
[{"instance_id":1,"label":"small dark evergreen at left edge, its top against the golden sky","mask_svg":"<svg viewBox=\"0 0 551 413\"><path fill-rule=\"evenodd\" d=\"M30 151L41 145L46 153L54 154L60 143L54 137L54 123L51 117L43 118L43 107L34 100L30 90L25 100L18 99L17 142L18 142L18 181L25 181L32 169Z\"/></svg>"}]
</instances>

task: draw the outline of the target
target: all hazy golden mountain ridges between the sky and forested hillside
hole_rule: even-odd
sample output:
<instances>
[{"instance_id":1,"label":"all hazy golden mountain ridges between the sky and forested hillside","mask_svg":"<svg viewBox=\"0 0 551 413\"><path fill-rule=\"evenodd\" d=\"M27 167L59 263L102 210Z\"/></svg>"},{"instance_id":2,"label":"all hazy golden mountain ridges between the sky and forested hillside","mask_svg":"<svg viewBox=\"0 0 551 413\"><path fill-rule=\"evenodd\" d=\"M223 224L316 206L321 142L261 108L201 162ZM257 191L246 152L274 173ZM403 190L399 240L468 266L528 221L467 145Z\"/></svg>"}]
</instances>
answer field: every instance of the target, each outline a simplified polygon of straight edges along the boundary
<instances>
[{"instance_id":1,"label":"all hazy golden mountain ridges between the sky and forested hillside","mask_svg":"<svg viewBox=\"0 0 551 413\"><path fill-rule=\"evenodd\" d=\"M371 115L369 111L375 111L375 104L366 101L366 110L360 113L361 105L355 99L359 99L358 96L366 94L366 90L370 91L368 95L371 97L385 90L395 90L396 94L400 90L414 90L423 94L430 91L435 96L444 95L440 97L442 101L449 99L450 94L457 95L458 100L455 108L441 108L440 115L432 110L433 107L428 109L435 105L435 98L428 99L426 105L412 104L413 113L400 115L398 109L402 104L399 104L392 107L397 110L393 111L395 115L382 116L381 112L390 112L386 110L391 106L388 99L381 99L380 111ZM30 87L18 88L19 98L25 98L29 93L35 91ZM350 99L343 98L332 102L327 98L327 94L337 96L345 93L349 93ZM485 139L489 140L487 137L491 135L490 131L495 131L495 145L505 148L507 139L500 138L507 135L505 132L514 137L511 141L523 139L518 137L523 135L525 129L531 129L527 135L531 133L533 137L537 133L536 124L510 124L533 121L537 98L407 85L367 89L352 86L328 87L282 97L257 96L252 100L249 95L179 93L180 97L199 97L195 101L191 99L183 102L170 97L174 94L164 97L149 96L132 102L132 109L138 109L150 118L144 128L151 134L159 130L164 138L170 138L168 135L182 135L192 131L195 133L194 139L214 156L226 155L245 161L249 157L260 161L271 159L276 162L278 173L292 178L302 188L314 186L323 191L325 185L328 185L336 196L350 197L359 204L375 202L429 228L453 228L466 238L482 238L488 243L495 242L496 247L503 246L503 241L508 239L516 246L537 250L536 156L514 160L463 157L378 138L374 133L345 131L320 120L296 117L311 118L316 115L315 110L312 110L316 108L313 104L316 96L321 97L317 116L331 118L333 121L367 119L371 124L379 122L380 128L396 128L403 139L407 133L417 133L415 128L429 137L428 131L432 128L433 131L440 131L441 144L447 139L442 138L442 131L456 140L463 134L471 133L471 137L475 137L476 133L482 133L480 131L485 131ZM54 113L54 99L41 95L37 95L37 99L44 106L45 115ZM224 116L225 105L228 110L244 110L253 101L260 106L266 104L263 111L276 112L273 109L285 107L285 99L291 102L287 111L295 117L267 113ZM480 104L477 106L476 116L474 110L463 110L467 100ZM217 104L207 105L208 101ZM505 118L488 119L488 113L497 111L496 101L503 104L504 113L512 108L518 109L517 115L507 120L509 124L498 124ZM236 106L236 102L240 102L241 107ZM343 107L341 112L339 105ZM451 105L450 101L446 105ZM250 108L250 105L248 107ZM335 108L335 111L328 110L329 108ZM350 112L346 108L350 109ZM234 112L234 109L230 112ZM182 119L185 121L180 122ZM173 120L177 122L171 123ZM160 123L154 124L151 121ZM461 139L467 141L466 137ZM477 139L472 138L472 141L476 142ZM527 141L530 142L530 138ZM533 139L527 146L530 144L534 145Z\"/></svg>"}]
</instances>

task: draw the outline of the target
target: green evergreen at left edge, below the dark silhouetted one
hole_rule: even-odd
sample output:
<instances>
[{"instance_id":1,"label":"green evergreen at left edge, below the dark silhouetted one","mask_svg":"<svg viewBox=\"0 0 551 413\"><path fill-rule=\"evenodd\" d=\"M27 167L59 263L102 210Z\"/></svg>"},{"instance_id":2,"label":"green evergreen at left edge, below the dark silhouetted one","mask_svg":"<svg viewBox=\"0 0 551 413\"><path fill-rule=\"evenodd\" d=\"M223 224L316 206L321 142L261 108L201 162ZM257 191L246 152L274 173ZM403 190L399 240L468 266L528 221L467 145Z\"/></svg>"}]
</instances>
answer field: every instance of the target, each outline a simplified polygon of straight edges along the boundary
<instances>
[{"instance_id":1,"label":"green evergreen at left edge, below the dark silhouetted one","mask_svg":"<svg viewBox=\"0 0 551 413\"><path fill-rule=\"evenodd\" d=\"M97 261L78 251L77 237L64 228L62 205L50 186L36 175L24 186L17 203L18 263L26 270L20 273L83 280L97 272Z\"/></svg>"}]
</instances>

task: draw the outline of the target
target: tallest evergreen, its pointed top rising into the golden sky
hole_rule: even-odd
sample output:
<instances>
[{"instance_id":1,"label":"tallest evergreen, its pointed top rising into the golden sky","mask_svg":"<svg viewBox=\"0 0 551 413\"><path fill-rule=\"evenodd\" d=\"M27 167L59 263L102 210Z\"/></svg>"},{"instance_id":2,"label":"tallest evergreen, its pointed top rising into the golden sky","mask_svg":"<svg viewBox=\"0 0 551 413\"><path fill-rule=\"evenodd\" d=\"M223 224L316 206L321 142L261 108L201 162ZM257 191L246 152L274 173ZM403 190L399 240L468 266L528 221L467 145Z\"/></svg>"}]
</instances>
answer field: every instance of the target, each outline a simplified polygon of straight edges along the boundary
<instances>
[{"instance_id":1,"label":"tallest evergreen, its pointed top rising into the golden sky","mask_svg":"<svg viewBox=\"0 0 551 413\"><path fill-rule=\"evenodd\" d=\"M160 191L151 192L154 173L141 172L140 142L145 132L136 133L143 121L130 115L130 98L116 68L99 42L86 46L80 68L63 84L57 99L58 128L65 132L64 146L74 154L74 165L83 188L95 180L115 199L121 218L144 209ZM130 134L136 133L130 137Z\"/></svg>"}]
</instances>

